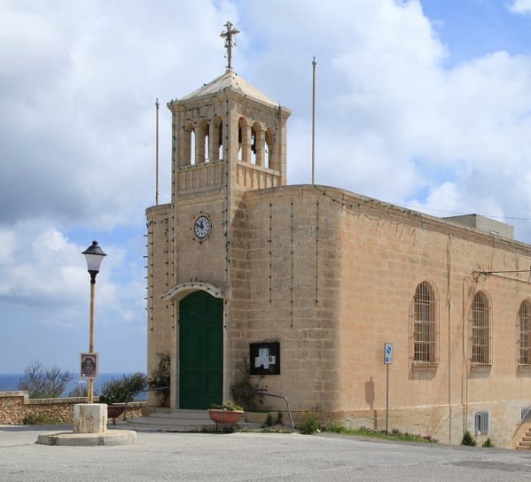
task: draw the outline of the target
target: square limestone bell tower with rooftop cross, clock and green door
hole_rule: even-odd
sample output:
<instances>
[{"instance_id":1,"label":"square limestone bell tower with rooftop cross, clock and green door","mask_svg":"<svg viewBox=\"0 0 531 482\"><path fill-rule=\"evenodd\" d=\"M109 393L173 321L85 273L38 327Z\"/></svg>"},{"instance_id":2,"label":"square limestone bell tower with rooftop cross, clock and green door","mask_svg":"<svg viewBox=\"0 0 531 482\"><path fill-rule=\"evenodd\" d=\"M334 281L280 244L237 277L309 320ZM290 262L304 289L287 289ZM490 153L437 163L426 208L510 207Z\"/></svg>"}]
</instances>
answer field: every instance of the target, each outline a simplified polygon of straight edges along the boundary
<instances>
[{"instance_id":1,"label":"square limestone bell tower with rooftop cross, clock and green door","mask_svg":"<svg viewBox=\"0 0 531 482\"><path fill-rule=\"evenodd\" d=\"M230 22L225 27L225 73L168 102L171 203L146 211L148 373L158 353L170 353L172 408L203 408L230 396L231 328L238 317L234 296L245 296L244 194L286 183L291 112L234 72L238 30ZM193 333L203 318L206 324L219 318L219 330L213 326ZM205 338L210 346L199 346ZM204 360L212 354L218 359ZM198 364L201 373L195 370Z\"/></svg>"}]
</instances>

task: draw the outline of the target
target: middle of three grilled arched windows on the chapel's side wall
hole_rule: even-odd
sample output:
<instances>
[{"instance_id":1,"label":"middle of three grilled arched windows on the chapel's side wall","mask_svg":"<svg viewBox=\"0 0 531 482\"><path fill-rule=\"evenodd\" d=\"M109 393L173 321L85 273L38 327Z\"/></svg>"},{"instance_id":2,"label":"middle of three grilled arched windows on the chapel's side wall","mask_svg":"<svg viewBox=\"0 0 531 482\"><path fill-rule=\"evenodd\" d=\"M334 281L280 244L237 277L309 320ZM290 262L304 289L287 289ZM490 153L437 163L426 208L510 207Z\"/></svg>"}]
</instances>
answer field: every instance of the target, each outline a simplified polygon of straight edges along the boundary
<instances>
[{"instance_id":1,"label":"middle of three grilled arched windows on the chapel's side wall","mask_svg":"<svg viewBox=\"0 0 531 482\"><path fill-rule=\"evenodd\" d=\"M472 299L472 363L489 365L490 354L490 307L484 292L477 292Z\"/></svg>"}]
</instances>

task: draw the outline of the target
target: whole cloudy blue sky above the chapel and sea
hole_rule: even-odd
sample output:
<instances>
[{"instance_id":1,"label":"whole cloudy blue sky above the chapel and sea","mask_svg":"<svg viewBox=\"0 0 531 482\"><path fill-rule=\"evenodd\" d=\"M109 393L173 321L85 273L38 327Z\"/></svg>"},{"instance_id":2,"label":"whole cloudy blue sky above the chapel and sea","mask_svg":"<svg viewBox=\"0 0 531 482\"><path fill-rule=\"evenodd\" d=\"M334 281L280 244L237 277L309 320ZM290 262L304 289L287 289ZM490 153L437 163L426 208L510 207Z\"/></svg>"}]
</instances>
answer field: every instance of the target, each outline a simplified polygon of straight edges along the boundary
<instances>
[{"instance_id":1,"label":"whole cloudy blue sky above the chapel and sea","mask_svg":"<svg viewBox=\"0 0 531 482\"><path fill-rule=\"evenodd\" d=\"M302 6L303 5L303 6ZM146 370L145 208L170 198L166 104L234 70L293 111L288 183L531 244L531 0L0 0L0 373Z\"/></svg>"}]
</instances>

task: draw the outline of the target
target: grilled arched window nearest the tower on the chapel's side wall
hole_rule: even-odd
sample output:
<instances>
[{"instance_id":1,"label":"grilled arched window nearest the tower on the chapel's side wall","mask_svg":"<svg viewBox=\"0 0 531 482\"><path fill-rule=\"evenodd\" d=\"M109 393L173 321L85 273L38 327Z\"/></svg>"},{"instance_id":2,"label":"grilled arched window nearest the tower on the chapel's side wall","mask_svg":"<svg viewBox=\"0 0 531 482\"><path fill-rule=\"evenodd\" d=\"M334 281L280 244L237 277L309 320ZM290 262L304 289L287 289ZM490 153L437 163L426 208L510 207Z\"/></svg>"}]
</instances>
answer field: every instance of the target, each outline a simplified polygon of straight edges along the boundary
<instances>
[{"instance_id":1,"label":"grilled arched window nearest the tower on the chapel's side wall","mask_svg":"<svg viewBox=\"0 0 531 482\"><path fill-rule=\"evenodd\" d=\"M431 284L418 284L413 299L413 361L438 362L439 337L437 299Z\"/></svg>"}]
</instances>

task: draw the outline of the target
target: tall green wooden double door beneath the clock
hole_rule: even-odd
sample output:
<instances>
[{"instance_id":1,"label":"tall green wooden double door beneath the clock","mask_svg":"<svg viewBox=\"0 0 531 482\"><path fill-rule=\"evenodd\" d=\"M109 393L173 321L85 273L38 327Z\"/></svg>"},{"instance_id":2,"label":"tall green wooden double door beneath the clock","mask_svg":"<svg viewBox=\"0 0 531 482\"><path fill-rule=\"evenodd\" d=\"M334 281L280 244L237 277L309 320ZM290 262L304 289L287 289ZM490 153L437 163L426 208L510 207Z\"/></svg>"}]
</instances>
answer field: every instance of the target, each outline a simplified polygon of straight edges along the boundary
<instances>
[{"instance_id":1,"label":"tall green wooden double door beneath the clock","mask_svg":"<svg viewBox=\"0 0 531 482\"><path fill-rule=\"evenodd\" d=\"M179 408L223 397L223 299L193 292L179 304Z\"/></svg>"}]
</instances>

